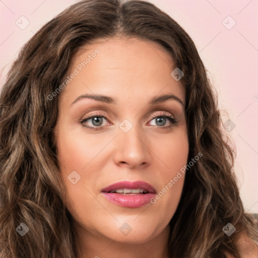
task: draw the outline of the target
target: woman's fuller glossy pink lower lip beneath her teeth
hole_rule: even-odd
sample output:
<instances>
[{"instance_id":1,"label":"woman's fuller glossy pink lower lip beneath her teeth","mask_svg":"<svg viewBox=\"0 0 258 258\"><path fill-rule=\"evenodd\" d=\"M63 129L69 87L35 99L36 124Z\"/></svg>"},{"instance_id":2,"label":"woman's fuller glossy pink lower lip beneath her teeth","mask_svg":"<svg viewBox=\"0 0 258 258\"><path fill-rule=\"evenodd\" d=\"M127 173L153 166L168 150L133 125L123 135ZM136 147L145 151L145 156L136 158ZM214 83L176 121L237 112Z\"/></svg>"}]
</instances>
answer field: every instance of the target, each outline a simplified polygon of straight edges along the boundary
<instances>
[{"instance_id":1,"label":"woman's fuller glossy pink lower lip beneath her teeth","mask_svg":"<svg viewBox=\"0 0 258 258\"><path fill-rule=\"evenodd\" d=\"M140 193L139 195L121 195L115 192L102 192L103 195L108 199L111 203L127 207L127 208L139 208L148 203L150 203L150 199L155 197L155 193Z\"/></svg>"}]
</instances>

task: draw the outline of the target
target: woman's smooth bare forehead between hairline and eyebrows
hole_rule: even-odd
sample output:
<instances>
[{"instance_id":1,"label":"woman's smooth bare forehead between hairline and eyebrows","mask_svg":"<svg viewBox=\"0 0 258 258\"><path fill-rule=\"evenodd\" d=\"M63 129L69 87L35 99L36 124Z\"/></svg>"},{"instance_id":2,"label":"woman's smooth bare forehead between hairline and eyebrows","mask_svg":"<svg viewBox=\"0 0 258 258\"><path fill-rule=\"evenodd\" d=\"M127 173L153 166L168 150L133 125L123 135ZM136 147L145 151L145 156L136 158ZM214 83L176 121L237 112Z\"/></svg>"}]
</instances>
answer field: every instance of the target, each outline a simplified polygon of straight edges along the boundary
<instances>
[{"instance_id":1,"label":"woman's smooth bare forehead between hairline and eyebrows","mask_svg":"<svg viewBox=\"0 0 258 258\"><path fill-rule=\"evenodd\" d=\"M160 92L174 93L184 100L183 85L171 77L174 69L172 57L157 42L140 38L99 39L81 47L72 58L66 76L76 76L63 97L71 102L79 94L95 93L126 101Z\"/></svg>"}]
</instances>

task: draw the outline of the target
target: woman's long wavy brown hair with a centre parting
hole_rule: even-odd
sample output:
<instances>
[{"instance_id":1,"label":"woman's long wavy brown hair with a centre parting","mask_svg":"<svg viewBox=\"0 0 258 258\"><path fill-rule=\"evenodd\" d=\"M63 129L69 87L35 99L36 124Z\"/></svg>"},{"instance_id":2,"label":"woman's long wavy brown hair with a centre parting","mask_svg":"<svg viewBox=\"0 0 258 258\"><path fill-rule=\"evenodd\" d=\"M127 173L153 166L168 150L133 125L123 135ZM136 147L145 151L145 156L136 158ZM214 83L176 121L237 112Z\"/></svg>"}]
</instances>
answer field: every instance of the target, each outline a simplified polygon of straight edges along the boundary
<instances>
[{"instance_id":1,"label":"woman's long wavy brown hair with a centre parting","mask_svg":"<svg viewBox=\"0 0 258 258\"><path fill-rule=\"evenodd\" d=\"M188 160L203 156L185 174L170 221L168 256L240 257L236 237L246 231L257 241L258 233L244 213L233 173L235 153L195 44L153 4L118 0L86 0L63 11L24 45L8 74L0 96L0 256L76 257L54 145L58 95L47 96L62 83L80 47L114 36L158 42L184 73ZM17 231L21 223L29 229L24 236ZM227 223L236 228L231 236L222 230Z\"/></svg>"}]
</instances>

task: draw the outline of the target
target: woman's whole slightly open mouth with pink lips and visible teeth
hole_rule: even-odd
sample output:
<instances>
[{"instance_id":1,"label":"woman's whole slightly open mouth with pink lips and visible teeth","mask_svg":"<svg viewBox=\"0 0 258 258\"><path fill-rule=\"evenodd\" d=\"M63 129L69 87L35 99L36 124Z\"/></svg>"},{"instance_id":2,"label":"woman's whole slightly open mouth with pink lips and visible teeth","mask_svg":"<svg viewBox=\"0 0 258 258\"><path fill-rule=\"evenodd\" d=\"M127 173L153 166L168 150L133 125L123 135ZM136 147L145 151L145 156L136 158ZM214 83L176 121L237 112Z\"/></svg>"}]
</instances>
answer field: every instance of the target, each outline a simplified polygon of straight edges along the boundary
<instances>
[{"instance_id":1,"label":"woman's whole slightly open mouth with pink lips and visible teeth","mask_svg":"<svg viewBox=\"0 0 258 258\"><path fill-rule=\"evenodd\" d=\"M127 208L139 208L156 195L155 188L144 181L121 181L101 190L102 195L111 203Z\"/></svg>"}]
</instances>

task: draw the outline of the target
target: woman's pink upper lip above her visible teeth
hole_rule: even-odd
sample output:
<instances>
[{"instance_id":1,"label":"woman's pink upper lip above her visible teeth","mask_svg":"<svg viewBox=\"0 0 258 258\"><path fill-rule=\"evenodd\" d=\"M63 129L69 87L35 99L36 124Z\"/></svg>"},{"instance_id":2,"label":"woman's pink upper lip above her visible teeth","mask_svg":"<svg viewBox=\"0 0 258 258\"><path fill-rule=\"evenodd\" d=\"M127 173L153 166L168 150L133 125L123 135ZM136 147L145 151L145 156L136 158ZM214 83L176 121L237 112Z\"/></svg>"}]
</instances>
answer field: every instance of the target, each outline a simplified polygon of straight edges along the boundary
<instances>
[{"instance_id":1,"label":"woman's pink upper lip above her visible teeth","mask_svg":"<svg viewBox=\"0 0 258 258\"><path fill-rule=\"evenodd\" d=\"M126 189L141 188L141 189L147 190L148 192L156 193L156 190L154 189L154 187L151 184L144 181L134 181L134 182L120 181L117 183L110 184L109 186L103 188L101 191L109 192L115 189L123 189L123 188L126 188Z\"/></svg>"}]
</instances>

